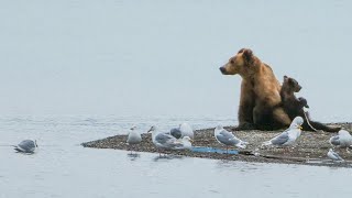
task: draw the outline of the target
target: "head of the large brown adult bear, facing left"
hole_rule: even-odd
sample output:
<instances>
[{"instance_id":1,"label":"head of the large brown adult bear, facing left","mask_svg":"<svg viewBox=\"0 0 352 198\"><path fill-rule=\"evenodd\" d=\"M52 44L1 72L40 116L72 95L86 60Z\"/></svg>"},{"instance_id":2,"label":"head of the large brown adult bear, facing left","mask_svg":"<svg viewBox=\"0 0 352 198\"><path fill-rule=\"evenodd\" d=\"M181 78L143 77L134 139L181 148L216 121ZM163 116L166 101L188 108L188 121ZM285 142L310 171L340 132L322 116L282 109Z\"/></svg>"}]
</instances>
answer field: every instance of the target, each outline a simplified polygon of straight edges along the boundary
<instances>
[{"instance_id":1,"label":"head of the large brown adult bear, facing left","mask_svg":"<svg viewBox=\"0 0 352 198\"><path fill-rule=\"evenodd\" d=\"M229 59L229 62L220 67L220 72L223 75L237 75L242 77L248 76L255 72L255 61L257 58L253 55L253 52L249 48L242 48L238 54Z\"/></svg>"}]
</instances>

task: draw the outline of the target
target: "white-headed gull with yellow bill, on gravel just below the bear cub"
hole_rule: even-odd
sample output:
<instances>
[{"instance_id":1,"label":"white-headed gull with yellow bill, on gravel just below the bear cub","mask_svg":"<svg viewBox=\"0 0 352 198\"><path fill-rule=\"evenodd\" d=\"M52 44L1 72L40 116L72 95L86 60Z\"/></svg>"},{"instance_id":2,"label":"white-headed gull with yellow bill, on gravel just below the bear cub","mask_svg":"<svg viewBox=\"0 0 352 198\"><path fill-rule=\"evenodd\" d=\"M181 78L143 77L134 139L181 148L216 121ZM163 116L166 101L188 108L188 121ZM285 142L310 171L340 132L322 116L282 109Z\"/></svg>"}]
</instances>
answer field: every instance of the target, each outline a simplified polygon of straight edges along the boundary
<instances>
[{"instance_id":1,"label":"white-headed gull with yellow bill, on gravel just below the bear cub","mask_svg":"<svg viewBox=\"0 0 352 198\"><path fill-rule=\"evenodd\" d=\"M279 135L273 138L270 141L264 142L262 145L276 145L276 146L289 146L295 143L297 138L300 135L301 124L304 119L301 117L296 117L290 123L289 128L285 130Z\"/></svg>"}]
</instances>

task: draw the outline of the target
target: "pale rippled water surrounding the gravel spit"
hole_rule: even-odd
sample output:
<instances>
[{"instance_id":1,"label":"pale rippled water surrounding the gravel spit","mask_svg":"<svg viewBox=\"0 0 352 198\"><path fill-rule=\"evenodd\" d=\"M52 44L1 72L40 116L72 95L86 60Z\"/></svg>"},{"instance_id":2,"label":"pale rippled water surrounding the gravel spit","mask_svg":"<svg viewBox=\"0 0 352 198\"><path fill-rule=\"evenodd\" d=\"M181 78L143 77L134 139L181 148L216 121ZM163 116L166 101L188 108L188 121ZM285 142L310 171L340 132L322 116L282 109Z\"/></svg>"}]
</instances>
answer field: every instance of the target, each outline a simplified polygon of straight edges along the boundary
<instances>
[{"instance_id":1,"label":"pale rippled water surrounding the gravel spit","mask_svg":"<svg viewBox=\"0 0 352 198\"><path fill-rule=\"evenodd\" d=\"M1 117L0 197L350 197L351 169L255 164L84 148L79 144L187 120L195 129L227 118ZM34 155L9 144L36 139Z\"/></svg>"}]
</instances>

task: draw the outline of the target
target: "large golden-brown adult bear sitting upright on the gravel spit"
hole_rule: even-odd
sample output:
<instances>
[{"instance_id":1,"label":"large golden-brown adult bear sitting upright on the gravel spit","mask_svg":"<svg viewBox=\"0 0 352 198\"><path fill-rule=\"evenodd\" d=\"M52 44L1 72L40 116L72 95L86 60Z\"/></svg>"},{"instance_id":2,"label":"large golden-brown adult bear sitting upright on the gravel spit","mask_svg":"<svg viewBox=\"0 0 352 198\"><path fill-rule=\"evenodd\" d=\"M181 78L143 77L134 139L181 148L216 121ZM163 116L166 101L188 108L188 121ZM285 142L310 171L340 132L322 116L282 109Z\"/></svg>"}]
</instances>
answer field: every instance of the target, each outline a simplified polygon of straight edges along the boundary
<instances>
[{"instance_id":1,"label":"large golden-brown adult bear sitting upright on the gravel spit","mask_svg":"<svg viewBox=\"0 0 352 198\"><path fill-rule=\"evenodd\" d=\"M290 124L280 106L280 84L272 68L251 50L240 50L220 70L223 75L242 77L239 127L235 130L276 130Z\"/></svg>"}]
</instances>

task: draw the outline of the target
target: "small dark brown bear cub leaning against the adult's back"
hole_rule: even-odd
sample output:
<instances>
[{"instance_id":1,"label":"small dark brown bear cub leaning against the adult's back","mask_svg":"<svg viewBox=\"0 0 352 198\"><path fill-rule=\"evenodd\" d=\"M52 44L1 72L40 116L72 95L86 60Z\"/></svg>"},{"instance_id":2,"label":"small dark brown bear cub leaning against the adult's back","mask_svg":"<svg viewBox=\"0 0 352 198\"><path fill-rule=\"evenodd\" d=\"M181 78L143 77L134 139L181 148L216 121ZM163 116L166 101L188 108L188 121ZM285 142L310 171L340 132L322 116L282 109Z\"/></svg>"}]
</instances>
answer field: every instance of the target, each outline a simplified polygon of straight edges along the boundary
<instances>
[{"instance_id":1,"label":"small dark brown bear cub leaning against the adult's back","mask_svg":"<svg viewBox=\"0 0 352 198\"><path fill-rule=\"evenodd\" d=\"M327 132L338 132L341 130L341 128L333 128L324 125L320 122L312 121L309 118L308 112L305 114L304 107L309 108L307 100L302 97L297 98L295 96L295 92L299 92L301 89L301 86L298 84L297 80L294 78L284 76L284 82L282 86L282 90L279 95L282 96L282 102L284 110L288 114L290 119L295 119L296 117L304 118L305 122L301 125L304 131L316 131L316 130L322 130ZM308 119L308 122L307 122ZM311 128L312 127L312 128Z\"/></svg>"}]
</instances>

